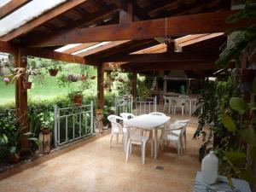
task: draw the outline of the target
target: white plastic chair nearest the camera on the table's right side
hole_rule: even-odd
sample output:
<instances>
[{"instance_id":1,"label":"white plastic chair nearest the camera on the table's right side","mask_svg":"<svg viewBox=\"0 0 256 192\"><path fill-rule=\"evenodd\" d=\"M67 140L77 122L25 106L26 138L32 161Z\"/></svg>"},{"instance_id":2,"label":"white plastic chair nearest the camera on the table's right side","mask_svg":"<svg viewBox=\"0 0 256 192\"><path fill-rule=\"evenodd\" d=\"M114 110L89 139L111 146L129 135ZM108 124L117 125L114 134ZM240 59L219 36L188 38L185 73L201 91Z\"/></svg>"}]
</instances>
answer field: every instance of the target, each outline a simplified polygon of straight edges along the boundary
<instances>
[{"instance_id":1,"label":"white plastic chair nearest the camera on the table's right side","mask_svg":"<svg viewBox=\"0 0 256 192\"><path fill-rule=\"evenodd\" d=\"M166 126L166 129L162 131L160 136L160 142L163 142L162 149L164 148L165 142L175 143L177 148L177 158L183 154L183 143L182 143L182 130L186 124L170 124ZM180 131L179 134L174 133L173 131Z\"/></svg>"}]
</instances>

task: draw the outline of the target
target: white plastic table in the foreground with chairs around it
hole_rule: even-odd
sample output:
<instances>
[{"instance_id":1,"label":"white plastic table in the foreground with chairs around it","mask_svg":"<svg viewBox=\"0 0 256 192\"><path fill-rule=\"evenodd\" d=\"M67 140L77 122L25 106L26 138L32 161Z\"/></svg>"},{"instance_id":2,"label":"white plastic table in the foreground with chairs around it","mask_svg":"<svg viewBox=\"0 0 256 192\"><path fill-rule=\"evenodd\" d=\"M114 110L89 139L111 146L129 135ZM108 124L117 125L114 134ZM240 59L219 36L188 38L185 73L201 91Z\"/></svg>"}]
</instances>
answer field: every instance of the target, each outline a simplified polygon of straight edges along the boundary
<instances>
[{"instance_id":1,"label":"white plastic table in the foreground with chairs around it","mask_svg":"<svg viewBox=\"0 0 256 192\"><path fill-rule=\"evenodd\" d=\"M167 116L159 116L152 114L142 114L132 119L127 119L124 121L125 126L137 127L145 130L153 130L154 131L154 159L157 158L158 154L158 137L157 130L163 129L163 125L171 119Z\"/></svg>"}]
</instances>

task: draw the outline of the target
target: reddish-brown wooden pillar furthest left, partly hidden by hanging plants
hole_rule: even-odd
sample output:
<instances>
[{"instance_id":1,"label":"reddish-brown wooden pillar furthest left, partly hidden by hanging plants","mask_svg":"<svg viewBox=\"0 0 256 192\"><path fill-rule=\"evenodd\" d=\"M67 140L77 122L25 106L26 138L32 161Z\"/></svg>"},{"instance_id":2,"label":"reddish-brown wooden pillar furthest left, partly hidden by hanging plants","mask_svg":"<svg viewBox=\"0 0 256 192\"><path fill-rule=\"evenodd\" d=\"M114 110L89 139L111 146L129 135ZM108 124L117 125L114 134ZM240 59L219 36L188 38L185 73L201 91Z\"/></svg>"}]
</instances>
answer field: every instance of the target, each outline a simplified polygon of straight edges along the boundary
<instances>
[{"instance_id":1,"label":"reddish-brown wooden pillar furthest left, partly hidden by hanging plants","mask_svg":"<svg viewBox=\"0 0 256 192\"><path fill-rule=\"evenodd\" d=\"M15 67L26 67L26 55L22 54L22 49L19 49L18 55L15 55ZM19 119L19 125L22 128L21 134L29 131L27 122L27 90L23 89L24 77L21 76L15 82L15 108L16 116ZM28 148L28 137L21 137L21 148Z\"/></svg>"}]
</instances>

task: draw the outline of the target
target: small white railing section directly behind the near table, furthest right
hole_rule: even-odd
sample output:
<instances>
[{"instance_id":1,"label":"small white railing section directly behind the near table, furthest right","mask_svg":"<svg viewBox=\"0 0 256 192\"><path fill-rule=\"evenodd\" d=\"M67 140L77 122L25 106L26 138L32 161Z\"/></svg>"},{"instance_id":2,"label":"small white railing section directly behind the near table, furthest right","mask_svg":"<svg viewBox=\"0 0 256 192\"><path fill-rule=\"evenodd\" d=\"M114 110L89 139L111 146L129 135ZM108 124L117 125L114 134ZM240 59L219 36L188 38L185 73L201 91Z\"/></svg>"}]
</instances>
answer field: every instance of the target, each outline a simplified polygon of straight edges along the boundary
<instances>
[{"instance_id":1,"label":"small white railing section directly behind the near table, furthest right","mask_svg":"<svg viewBox=\"0 0 256 192\"><path fill-rule=\"evenodd\" d=\"M156 101L156 96L143 100L137 97L135 102L137 115L156 112Z\"/></svg>"}]
</instances>

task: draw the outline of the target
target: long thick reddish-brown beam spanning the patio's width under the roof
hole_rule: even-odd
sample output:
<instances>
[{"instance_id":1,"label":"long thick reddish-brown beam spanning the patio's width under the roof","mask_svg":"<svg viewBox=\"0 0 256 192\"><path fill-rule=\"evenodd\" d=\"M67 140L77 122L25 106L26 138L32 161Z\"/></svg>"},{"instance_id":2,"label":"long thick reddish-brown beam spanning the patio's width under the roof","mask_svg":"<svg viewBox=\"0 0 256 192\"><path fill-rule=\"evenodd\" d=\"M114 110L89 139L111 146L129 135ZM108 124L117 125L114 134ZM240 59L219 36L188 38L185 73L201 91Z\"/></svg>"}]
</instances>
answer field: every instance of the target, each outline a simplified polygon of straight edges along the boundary
<instances>
[{"instance_id":1,"label":"long thick reddish-brown beam spanning the patio's width under the roof","mask_svg":"<svg viewBox=\"0 0 256 192\"><path fill-rule=\"evenodd\" d=\"M246 26L255 20L241 20L227 24L225 19L236 11L220 11L206 14L173 16L167 19L142 20L129 25L96 26L57 32L45 37L27 40L28 46L55 46L89 42L118 41L126 39L157 38L166 35L181 36L188 34L224 32L236 26ZM177 27L178 26L178 27Z\"/></svg>"}]
</instances>

